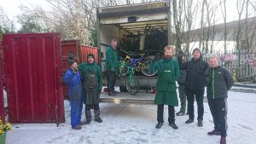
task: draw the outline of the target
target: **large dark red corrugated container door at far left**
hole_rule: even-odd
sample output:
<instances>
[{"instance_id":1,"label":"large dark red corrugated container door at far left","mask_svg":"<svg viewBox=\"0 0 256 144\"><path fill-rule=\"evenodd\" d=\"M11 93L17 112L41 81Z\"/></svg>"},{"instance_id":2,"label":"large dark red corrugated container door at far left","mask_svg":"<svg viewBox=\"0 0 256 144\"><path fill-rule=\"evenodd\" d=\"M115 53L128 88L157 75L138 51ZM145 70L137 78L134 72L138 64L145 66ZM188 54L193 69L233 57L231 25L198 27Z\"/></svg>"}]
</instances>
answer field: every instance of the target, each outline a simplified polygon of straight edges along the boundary
<instances>
[{"instance_id":1,"label":"large dark red corrugated container door at far left","mask_svg":"<svg viewBox=\"0 0 256 144\"><path fill-rule=\"evenodd\" d=\"M60 34L3 35L9 122L63 123Z\"/></svg>"}]
</instances>

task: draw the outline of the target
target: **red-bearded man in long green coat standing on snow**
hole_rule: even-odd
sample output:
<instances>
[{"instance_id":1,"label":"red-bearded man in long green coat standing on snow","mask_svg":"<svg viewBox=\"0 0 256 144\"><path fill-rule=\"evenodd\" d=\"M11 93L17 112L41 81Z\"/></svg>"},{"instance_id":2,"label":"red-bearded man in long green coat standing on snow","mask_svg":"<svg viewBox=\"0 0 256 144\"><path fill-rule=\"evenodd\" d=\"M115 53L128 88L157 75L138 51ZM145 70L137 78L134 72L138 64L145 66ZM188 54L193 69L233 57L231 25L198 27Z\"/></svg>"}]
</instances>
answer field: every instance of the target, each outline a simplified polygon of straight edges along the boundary
<instances>
[{"instance_id":1,"label":"red-bearded man in long green coat standing on snow","mask_svg":"<svg viewBox=\"0 0 256 144\"><path fill-rule=\"evenodd\" d=\"M157 104L158 124L155 126L156 129L160 129L164 123L164 105L168 105L169 125L175 130L178 129L177 125L175 124L174 107L177 107L177 92L175 81L178 77L179 68L177 60L172 58L174 51L174 46L167 45L164 48L164 59L150 64L150 72L155 72L157 70L157 93L154 97L154 103Z\"/></svg>"}]
</instances>

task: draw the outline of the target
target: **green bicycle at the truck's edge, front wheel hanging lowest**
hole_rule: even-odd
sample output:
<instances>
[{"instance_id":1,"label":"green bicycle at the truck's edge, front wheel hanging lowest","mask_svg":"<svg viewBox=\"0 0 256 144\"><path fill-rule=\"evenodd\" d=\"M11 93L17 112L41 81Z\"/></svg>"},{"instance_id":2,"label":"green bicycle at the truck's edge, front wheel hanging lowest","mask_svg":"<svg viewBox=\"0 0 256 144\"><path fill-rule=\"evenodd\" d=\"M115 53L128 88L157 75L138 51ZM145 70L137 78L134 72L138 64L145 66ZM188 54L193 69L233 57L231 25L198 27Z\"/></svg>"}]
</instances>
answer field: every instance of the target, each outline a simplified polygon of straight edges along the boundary
<instances>
[{"instance_id":1,"label":"green bicycle at the truck's edge, front wheel hanging lowest","mask_svg":"<svg viewBox=\"0 0 256 144\"><path fill-rule=\"evenodd\" d=\"M118 70L119 76L121 77L127 76L125 81L125 86L127 91L129 92L130 95L136 95L139 90L139 82L136 76L134 75L133 68L125 64L124 61L119 62L118 66L119 66L119 70Z\"/></svg>"}]
</instances>

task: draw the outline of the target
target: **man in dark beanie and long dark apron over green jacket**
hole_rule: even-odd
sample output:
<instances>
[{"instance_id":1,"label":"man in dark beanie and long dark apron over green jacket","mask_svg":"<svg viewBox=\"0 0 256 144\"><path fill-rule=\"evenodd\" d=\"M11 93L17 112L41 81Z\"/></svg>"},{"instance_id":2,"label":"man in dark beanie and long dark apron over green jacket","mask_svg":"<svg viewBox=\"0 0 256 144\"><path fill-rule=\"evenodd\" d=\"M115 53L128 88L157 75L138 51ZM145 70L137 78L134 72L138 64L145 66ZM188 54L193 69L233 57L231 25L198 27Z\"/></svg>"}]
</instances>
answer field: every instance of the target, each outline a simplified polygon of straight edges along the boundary
<instances>
[{"instance_id":1,"label":"man in dark beanie and long dark apron over green jacket","mask_svg":"<svg viewBox=\"0 0 256 144\"><path fill-rule=\"evenodd\" d=\"M83 79L83 101L85 104L85 124L90 124L91 112L90 108L94 108L95 121L102 123L100 118L100 95L102 92L102 70L95 63L95 56L87 55L87 63L79 65Z\"/></svg>"}]
</instances>

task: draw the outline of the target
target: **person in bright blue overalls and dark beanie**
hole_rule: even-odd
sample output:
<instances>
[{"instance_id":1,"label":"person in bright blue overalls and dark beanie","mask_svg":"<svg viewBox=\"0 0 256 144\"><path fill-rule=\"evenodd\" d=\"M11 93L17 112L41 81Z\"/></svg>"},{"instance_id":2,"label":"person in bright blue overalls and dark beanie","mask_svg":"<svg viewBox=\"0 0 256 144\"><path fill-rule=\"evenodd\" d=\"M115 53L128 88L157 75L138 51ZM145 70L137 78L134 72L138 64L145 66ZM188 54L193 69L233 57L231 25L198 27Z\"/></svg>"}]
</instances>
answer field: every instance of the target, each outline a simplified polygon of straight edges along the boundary
<instances>
[{"instance_id":1,"label":"person in bright blue overalls and dark beanie","mask_svg":"<svg viewBox=\"0 0 256 144\"><path fill-rule=\"evenodd\" d=\"M78 64L75 60L68 60L67 72L64 75L64 83L67 84L69 102L70 102L70 118L73 130L80 130L83 124L81 122L81 114L83 110L82 101L82 84L80 73L78 72Z\"/></svg>"}]
</instances>

